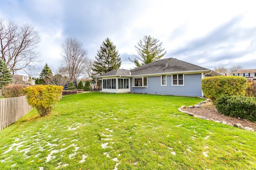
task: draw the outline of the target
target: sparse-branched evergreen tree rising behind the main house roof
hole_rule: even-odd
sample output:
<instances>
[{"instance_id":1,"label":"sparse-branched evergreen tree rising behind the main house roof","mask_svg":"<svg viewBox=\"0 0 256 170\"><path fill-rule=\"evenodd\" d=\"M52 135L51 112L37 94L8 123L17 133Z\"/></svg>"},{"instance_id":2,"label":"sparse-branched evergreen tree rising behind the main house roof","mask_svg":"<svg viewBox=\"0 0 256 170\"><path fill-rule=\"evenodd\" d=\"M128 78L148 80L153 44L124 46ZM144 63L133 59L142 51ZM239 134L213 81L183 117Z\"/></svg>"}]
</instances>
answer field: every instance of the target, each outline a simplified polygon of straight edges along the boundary
<instances>
[{"instance_id":1,"label":"sparse-branched evergreen tree rising behind the main house roof","mask_svg":"<svg viewBox=\"0 0 256 170\"><path fill-rule=\"evenodd\" d=\"M139 56L135 56L134 60L128 58L133 62L136 67L142 66L144 64L152 63L163 57L166 51L162 49L162 42L158 43L159 40L154 37L145 35L143 39L138 42L138 46L135 45L136 51Z\"/></svg>"}]
</instances>

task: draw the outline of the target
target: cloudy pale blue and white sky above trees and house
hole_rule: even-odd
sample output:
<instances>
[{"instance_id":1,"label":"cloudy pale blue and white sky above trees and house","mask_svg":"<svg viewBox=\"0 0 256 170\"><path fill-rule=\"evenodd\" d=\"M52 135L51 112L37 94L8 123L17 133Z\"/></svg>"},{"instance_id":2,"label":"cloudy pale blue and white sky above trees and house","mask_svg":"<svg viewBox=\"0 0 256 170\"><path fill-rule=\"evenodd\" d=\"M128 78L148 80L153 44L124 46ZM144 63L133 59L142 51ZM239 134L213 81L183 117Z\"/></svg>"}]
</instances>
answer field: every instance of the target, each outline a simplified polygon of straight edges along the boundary
<instances>
[{"instance_id":1,"label":"cloudy pale blue and white sky above trees and house","mask_svg":"<svg viewBox=\"0 0 256 170\"><path fill-rule=\"evenodd\" d=\"M151 35L167 53L206 68L256 68L255 0L0 0L0 17L30 23L42 37L39 72L59 66L60 44L76 37L94 58L109 37L123 69L134 45ZM32 73L34 74L34 73Z\"/></svg>"}]
</instances>

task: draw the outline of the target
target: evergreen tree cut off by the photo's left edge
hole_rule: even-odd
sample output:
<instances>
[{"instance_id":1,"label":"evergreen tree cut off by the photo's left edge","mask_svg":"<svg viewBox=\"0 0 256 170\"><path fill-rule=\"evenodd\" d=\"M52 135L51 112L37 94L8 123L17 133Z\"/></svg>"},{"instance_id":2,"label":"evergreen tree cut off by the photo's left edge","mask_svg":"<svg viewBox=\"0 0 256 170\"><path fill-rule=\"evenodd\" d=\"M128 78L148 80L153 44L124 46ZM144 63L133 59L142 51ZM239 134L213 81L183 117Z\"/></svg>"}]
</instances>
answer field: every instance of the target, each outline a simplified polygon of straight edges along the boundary
<instances>
[{"instance_id":1,"label":"evergreen tree cut off by the photo's left edge","mask_svg":"<svg viewBox=\"0 0 256 170\"><path fill-rule=\"evenodd\" d=\"M0 89L12 82L12 74L6 64L0 59Z\"/></svg>"}]
</instances>

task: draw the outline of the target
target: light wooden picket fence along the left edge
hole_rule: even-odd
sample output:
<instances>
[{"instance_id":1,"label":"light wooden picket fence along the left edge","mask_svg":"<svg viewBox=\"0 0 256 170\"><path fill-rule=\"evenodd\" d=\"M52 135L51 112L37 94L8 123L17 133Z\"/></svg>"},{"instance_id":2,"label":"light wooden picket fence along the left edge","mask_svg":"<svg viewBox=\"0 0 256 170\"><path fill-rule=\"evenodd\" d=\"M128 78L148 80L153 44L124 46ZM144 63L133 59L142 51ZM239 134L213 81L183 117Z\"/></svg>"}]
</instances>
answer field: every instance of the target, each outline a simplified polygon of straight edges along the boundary
<instances>
[{"instance_id":1,"label":"light wooden picket fence along the left edge","mask_svg":"<svg viewBox=\"0 0 256 170\"><path fill-rule=\"evenodd\" d=\"M31 109L26 96L0 99L0 130L16 122Z\"/></svg>"}]
</instances>

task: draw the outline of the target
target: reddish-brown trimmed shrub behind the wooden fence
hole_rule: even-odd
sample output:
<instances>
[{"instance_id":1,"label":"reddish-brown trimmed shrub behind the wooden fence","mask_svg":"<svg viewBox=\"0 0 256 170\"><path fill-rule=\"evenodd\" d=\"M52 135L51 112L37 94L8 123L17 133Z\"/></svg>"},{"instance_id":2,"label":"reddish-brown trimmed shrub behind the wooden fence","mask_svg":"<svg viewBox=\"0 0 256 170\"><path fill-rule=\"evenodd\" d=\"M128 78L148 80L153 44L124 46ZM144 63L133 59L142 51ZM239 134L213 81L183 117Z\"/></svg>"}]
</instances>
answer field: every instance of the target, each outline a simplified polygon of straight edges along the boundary
<instances>
[{"instance_id":1,"label":"reddish-brown trimmed shrub behind the wooden fence","mask_svg":"<svg viewBox=\"0 0 256 170\"><path fill-rule=\"evenodd\" d=\"M12 84L8 86L4 86L2 88L2 94L6 98L14 98L19 96L24 96L23 88L25 88L26 85L21 84Z\"/></svg>"}]
</instances>

